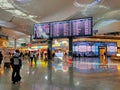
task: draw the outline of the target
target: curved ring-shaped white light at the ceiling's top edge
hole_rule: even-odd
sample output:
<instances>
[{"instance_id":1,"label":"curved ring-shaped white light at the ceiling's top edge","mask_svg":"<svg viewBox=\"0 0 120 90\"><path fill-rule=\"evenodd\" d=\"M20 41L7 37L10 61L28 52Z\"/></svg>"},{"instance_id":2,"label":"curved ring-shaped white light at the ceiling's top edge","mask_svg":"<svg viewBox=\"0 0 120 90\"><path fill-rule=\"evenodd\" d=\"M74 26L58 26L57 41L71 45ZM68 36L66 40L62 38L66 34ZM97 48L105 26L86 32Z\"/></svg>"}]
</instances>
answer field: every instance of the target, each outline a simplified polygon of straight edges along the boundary
<instances>
[{"instance_id":1,"label":"curved ring-shaped white light at the ceiling's top edge","mask_svg":"<svg viewBox=\"0 0 120 90\"><path fill-rule=\"evenodd\" d=\"M100 2L101 2L101 0L94 0L91 3L88 3L88 4L81 4L77 0L74 0L73 4L76 7L91 7L91 6L94 6L94 5L96 5L96 4L100 3Z\"/></svg>"}]
</instances>

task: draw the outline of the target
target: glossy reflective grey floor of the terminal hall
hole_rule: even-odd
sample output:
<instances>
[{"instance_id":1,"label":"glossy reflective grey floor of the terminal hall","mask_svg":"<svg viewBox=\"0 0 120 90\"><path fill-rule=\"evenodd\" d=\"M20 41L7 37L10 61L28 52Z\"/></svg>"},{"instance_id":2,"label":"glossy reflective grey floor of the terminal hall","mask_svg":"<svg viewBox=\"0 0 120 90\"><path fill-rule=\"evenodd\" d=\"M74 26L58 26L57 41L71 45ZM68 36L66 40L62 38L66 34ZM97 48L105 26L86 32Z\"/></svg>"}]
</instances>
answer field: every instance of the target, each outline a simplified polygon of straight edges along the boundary
<instances>
[{"instance_id":1,"label":"glossy reflective grey floor of the terminal hall","mask_svg":"<svg viewBox=\"0 0 120 90\"><path fill-rule=\"evenodd\" d=\"M47 64L48 63L48 64ZM120 63L99 58L23 61L20 84L11 83L12 69L0 70L0 90L120 90Z\"/></svg>"}]
</instances>

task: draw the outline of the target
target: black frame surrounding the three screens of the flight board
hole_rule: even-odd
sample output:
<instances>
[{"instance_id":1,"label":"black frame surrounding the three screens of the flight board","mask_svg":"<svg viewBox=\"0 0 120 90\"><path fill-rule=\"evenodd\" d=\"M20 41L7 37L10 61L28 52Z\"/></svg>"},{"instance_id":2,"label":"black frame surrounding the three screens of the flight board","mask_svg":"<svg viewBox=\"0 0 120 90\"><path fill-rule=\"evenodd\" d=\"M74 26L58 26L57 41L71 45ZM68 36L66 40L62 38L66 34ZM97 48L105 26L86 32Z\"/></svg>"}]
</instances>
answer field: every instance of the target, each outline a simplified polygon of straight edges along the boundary
<instances>
[{"instance_id":1,"label":"black frame surrounding the three screens of the flight board","mask_svg":"<svg viewBox=\"0 0 120 90\"><path fill-rule=\"evenodd\" d=\"M73 20L84 20L84 19L90 19L91 21L90 21L90 34L89 35L85 35L85 34L82 34L82 35L73 35L72 33L73 33L73 30L72 30L72 24L71 24L71 21L73 21ZM53 23L56 23L56 22L68 22L68 33L69 33L69 35L68 36L53 36L53 28L52 28L52 24ZM44 23L36 23L36 24L48 24L49 25L49 34L47 34L48 35L48 38L69 38L69 37L73 37L73 38L75 38L75 37L88 37L88 36L92 36L93 35L93 29L92 29L92 27L93 27L93 18L92 17L84 17L84 18L78 18L78 19L71 19L71 20L62 20L62 21L53 21L53 22L44 22ZM35 37L35 30L34 30L34 26L36 25L36 24L34 24L33 25L33 38L34 39L44 39L44 38L41 38L41 37Z\"/></svg>"}]
</instances>

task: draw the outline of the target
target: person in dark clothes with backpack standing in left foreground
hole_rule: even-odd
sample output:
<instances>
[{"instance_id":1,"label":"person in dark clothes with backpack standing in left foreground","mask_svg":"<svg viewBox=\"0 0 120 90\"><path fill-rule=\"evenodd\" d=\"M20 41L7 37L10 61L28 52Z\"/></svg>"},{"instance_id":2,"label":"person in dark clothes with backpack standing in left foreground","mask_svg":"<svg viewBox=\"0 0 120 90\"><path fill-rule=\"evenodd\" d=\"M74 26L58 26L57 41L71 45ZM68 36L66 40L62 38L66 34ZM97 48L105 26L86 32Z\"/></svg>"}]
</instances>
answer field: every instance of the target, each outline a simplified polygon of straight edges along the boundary
<instances>
[{"instance_id":1,"label":"person in dark clothes with backpack standing in left foreground","mask_svg":"<svg viewBox=\"0 0 120 90\"><path fill-rule=\"evenodd\" d=\"M20 68L22 66L22 61L20 59L19 50L16 50L13 57L11 58L11 66L12 66L12 82L15 84L21 80L20 76Z\"/></svg>"}]
</instances>

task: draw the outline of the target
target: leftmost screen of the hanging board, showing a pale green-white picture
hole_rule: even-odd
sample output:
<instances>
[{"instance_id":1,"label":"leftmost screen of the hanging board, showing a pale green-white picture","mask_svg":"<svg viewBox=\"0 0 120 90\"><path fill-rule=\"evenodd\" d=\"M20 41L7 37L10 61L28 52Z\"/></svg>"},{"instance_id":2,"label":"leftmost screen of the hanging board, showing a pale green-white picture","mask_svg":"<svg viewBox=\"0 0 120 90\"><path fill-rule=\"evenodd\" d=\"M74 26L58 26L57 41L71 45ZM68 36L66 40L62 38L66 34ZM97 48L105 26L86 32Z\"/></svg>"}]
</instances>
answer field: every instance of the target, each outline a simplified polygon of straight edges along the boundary
<instances>
[{"instance_id":1,"label":"leftmost screen of the hanging board, showing a pale green-white picture","mask_svg":"<svg viewBox=\"0 0 120 90\"><path fill-rule=\"evenodd\" d=\"M33 38L34 39L41 39L41 38L48 38L50 32L50 25L49 23L37 23L33 26Z\"/></svg>"}]
</instances>

